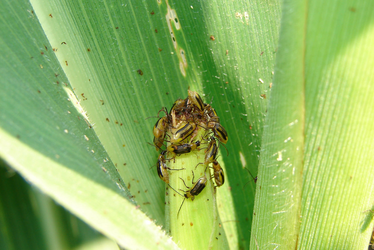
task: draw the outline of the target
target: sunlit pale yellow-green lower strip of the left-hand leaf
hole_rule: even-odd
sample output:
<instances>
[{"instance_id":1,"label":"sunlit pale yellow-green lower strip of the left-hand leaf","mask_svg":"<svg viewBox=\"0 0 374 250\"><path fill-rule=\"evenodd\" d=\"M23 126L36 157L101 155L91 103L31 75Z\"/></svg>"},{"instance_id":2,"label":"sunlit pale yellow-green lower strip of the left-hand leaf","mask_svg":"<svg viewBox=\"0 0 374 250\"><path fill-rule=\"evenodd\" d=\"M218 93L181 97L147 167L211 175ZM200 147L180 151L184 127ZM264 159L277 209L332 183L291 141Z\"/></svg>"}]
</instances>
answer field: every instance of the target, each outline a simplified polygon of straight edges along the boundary
<instances>
[{"instance_id":1,"label":"sunlit pale yellow-green lower strip of the left-hand leaf","mask_svg":"<svg viewBox=\"0 0 374 250\"><path fill-rule=\"evenodd\" d=\"M149 249L150 246L155 247L156 245L160 249L164 247L178 249L175 243L163 234L145 214L141 213L132 202L123 199L123 196L118 192L88 178L79 178L79 173L66 168L55 160L46 159L43 154L17 141L14 137L4 133L2 129L0 135L1 139L6 139L9 142L9 144L1 145L3 159L12 162L17 171L32 183L38 183L38 187L47 195L67 207L72 213L79 214L89 225L100 228L104 234L116 240L121 246ZM17 147L22 156L29 157L19 157L19 155L12 153L13 147ZM27 164L30 157L36 160L36 163L31 166ZM41 166L40 162L45 164ZM25 167L26 165L28 167ZM47 169L49 168L52 168L53 172L48 173ZM48 178L45 178L46 173L48 173ZM61 176L67 179L64 180L60 178ZM79 180L79 182L74 184L70 180ZM69 188L66 188L67 184L70 185ZM58 186L65 187L65 189ZM84 186L90 187L90 189L83 191L82 187ZM78 192L72 195L72 190ZM96 199L92 199L93 196ZM128 216L124 217L123 211L118 210L118 207L123 208ZM128 227L129 225L138 225L138 227ZM145 237L145 239L143 235L153 236Z\"/></svg>"}]
</instances>

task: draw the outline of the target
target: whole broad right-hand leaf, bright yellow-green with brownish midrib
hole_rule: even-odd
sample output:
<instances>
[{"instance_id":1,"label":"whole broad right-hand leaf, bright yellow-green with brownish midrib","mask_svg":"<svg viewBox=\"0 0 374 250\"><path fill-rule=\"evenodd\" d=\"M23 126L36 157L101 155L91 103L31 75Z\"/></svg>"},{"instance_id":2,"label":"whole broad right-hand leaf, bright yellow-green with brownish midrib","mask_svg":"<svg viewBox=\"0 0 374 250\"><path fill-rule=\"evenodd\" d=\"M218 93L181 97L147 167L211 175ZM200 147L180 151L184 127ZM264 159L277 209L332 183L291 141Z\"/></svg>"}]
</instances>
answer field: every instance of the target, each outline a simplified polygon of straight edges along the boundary
<instances>
[{"instance_id":1,"label":"whole broad right-hand leaf, bright yellow-green with brownish midrib","mask_svg":"<svg viewBox=\"0 0 374 250\"><path fill-rule=\"evenodd\" d=\"M373 7L368 1L285 1L251 248L367 248Z\"/></svg>"}]
</instances>

